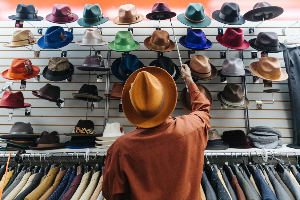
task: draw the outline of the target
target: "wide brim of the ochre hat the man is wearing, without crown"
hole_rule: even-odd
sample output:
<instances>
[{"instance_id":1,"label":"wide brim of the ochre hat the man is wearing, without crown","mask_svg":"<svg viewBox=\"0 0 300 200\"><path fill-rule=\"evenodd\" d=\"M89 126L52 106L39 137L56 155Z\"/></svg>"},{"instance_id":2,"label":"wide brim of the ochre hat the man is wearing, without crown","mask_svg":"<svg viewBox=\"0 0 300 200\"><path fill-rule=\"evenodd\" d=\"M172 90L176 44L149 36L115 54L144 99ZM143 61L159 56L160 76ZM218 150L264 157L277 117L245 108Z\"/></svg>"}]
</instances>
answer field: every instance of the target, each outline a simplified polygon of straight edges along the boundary
<instances>
[{"instance_id":1,"label":"wide brim of the ochre hat the man is wearing, without crown","mask_svg":"<svg viewBox=\"0 0 300 200\"><path fill-rule=\"evenodd\" d=\"M134 109L129 96L131 83L134 82L138 73L142 71L146 71L155 76L155 78L159 80L165 91L164 101L162 102L165 103L165 106L161 106L162 108L158 112L158 114L150 118L142 116ZM173 113L176 103L177 87L175 81L166 70L163 70L159 67L143 67L136 70L126 81L122 92L122 106L126 118L129 120L129 122L141 128L153 128L160 125Z\"/></svg>"}]
</instances>

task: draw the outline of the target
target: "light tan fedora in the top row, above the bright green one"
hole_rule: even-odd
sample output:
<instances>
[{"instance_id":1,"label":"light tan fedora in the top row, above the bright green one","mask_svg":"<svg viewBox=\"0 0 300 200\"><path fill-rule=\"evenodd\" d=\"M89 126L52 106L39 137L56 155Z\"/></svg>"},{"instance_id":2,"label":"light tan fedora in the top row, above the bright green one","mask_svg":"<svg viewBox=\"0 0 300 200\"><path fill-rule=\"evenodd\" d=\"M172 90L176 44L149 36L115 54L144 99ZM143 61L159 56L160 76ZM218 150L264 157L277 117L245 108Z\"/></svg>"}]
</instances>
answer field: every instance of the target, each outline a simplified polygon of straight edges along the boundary
<instances>
[{"instance_id":1,"label":"light tan fedora in the top row, above the bright green one","mask_svg":"<svg viewBox=\"0 0 300 200\"><path fill-rule=\"evenodd\" d=\"M119 25L135 24L144 19L144 16L138 14L135 6L132 4L125 4L119 7L119 16L114 18L113 22Z\"/></svg>"}]
</instances>

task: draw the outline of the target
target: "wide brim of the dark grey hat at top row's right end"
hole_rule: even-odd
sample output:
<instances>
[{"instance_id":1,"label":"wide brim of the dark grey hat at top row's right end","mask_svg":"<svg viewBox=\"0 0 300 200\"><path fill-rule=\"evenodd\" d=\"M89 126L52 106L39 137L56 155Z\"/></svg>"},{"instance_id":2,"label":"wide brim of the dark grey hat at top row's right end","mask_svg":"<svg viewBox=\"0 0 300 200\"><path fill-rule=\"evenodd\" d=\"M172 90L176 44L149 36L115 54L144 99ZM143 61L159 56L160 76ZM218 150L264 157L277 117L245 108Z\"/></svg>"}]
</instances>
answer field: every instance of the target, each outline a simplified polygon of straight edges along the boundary
<instances>
[{"instance_id":1,"label":"wide brim of the dark grey hat at top row's right end","mask_svg":"<svg viewBox=\"0 0 300 200\"><path fill-rule=\"evenodd\" d=\"M259 19L253 18L256 14L262 14L262 13L272 13L273 16L270 18L266 18L266 19L263 19L262 17ZM279 6L265 6L265 7L255 8L255 9L252 9L252 10L246 12L244 14L244 18L250 22L261 22L262 20L269 20L269 19L276 18L279 15L281 15L282 13L283 13L283 8L281 8Z\"/></svg>"}]
</instances>

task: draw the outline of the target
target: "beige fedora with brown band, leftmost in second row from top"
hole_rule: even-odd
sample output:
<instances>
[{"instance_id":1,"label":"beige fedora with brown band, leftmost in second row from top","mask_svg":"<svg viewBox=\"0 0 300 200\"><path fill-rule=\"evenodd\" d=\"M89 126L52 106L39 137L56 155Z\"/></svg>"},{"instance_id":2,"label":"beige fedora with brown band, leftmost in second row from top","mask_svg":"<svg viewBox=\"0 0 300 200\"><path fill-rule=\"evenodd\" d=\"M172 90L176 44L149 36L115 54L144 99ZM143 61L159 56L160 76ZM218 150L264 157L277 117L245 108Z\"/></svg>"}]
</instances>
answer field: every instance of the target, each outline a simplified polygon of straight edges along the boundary
<instances>
[{"instance_id":1,"label":"beige fedora with brown band, leftmost in second row from top","mask_svg":"<svg viewBox=\"0 0 300 200\"><path fill-rule=\"evenodd\" d=\"M30 30L16 30L13 33L11 42L3 45L5 47L21 47L29 46L37 43L37 40L34 38Z\"/></svg>"}]
</instances>

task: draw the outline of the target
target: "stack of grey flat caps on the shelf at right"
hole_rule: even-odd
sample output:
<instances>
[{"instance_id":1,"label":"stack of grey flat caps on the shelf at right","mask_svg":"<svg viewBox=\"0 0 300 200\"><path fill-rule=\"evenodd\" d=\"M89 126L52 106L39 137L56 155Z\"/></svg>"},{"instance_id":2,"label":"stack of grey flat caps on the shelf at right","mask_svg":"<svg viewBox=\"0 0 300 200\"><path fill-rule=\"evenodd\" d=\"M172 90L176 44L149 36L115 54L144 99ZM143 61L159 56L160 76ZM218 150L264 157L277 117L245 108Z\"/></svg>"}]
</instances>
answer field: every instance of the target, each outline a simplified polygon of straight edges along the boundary
<instances>
[{"instance_id":1,"label":"stack of grey flat caps on the shelf at right","mask_svg":"<svg viewBox=\"0 0 300 200\"><path fill-rule=\"evenodd\" d=\"M269 126L255 126L247 135L250 143L257 148L278 149L282 147L282 133Z\"/></svg>"}]
</instances>

